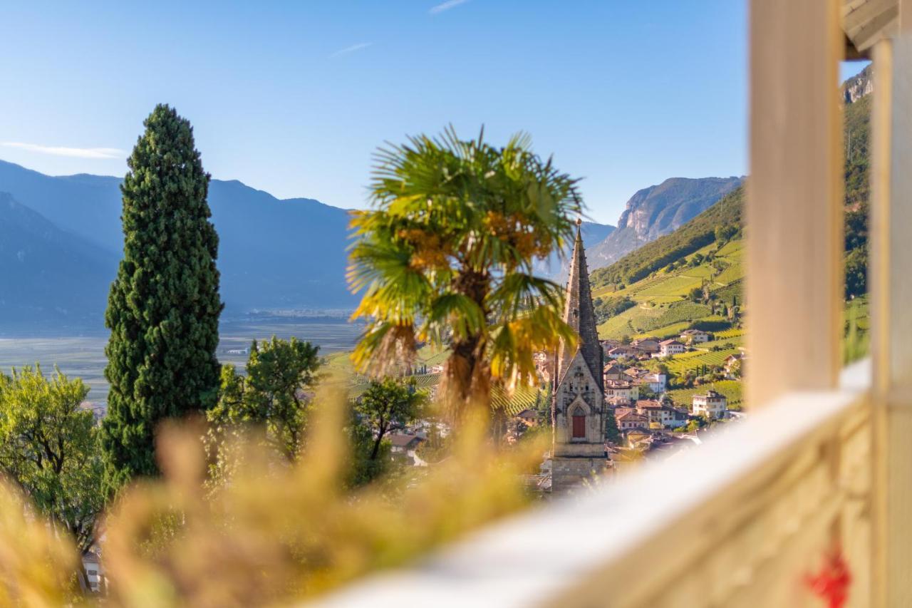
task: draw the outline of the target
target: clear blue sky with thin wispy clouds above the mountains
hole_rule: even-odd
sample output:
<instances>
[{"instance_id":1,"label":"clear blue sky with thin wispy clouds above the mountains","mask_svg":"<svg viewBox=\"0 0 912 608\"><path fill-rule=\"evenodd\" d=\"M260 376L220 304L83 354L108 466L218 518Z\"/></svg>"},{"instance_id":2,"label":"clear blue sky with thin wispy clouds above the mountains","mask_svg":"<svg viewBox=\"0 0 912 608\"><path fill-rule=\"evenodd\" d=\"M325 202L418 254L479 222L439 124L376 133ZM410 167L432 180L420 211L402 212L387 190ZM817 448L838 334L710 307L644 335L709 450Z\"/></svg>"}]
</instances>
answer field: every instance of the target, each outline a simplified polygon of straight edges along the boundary
<instances>
[{"instance_id":1,"label":"clear blue sky with thin wispy clouds above the mountains","mask_svg":"<svg viewBox=\"0 0 912 608\"><path fill-rule=\"evenodd\" d=\"M746 3L5 3L0 159L126 172L158 102L213 177L364 206L371 152L529 131L614 224L639 188L747 172Z\"/></svg>"}]
</instances>

